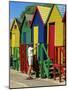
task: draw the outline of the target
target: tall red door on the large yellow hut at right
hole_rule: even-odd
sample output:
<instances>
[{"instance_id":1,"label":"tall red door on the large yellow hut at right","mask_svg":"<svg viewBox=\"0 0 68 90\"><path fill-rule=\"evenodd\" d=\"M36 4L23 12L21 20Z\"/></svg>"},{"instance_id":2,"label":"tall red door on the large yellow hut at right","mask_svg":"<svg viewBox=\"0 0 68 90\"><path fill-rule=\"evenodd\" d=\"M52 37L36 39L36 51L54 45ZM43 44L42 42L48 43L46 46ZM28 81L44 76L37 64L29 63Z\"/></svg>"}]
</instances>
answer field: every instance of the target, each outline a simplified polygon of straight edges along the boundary
<instances>
[{"instance_id":1,"label":"tall red door on the large yellow hut at right","mask_svg":"<svg viewBox=\"0 0 68 90\"><path fill-rule=\"evenodd\" d=\"M55 36L55 23L49 24L49 49L48 54L52 61L54 61L54 37Z\"/></svg>"}]
</instances>

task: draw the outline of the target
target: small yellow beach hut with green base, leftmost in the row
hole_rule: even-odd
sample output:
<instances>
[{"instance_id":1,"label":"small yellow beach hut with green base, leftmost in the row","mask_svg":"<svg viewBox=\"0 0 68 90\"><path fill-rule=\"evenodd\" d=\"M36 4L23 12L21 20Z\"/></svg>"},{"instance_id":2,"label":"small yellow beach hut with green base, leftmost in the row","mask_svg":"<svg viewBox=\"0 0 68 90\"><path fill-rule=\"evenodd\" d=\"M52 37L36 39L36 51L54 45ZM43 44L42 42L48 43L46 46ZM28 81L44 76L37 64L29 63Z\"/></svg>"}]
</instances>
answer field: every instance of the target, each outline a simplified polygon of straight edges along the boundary
<instances>
[{"instance_id":1,"label":"small yellow beach hut with green base, leftmost in the row","mask_svg":"<svg viewBox=\"0 0 68 90\"><path fill-rule=\"evenodd\" d=\"M15 18L10 28L10 48L12 66L19 70L20 22Z\"/></svg>"}]
</instances>

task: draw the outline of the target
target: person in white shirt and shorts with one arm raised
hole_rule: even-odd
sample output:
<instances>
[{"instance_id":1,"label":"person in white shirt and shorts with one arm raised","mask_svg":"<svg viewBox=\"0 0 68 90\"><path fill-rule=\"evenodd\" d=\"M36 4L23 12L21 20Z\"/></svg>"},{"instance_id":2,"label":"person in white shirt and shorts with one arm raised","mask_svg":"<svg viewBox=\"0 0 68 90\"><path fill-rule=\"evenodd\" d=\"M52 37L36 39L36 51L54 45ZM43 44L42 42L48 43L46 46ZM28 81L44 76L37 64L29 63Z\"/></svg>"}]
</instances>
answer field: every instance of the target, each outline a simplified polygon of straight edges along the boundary
<instances>
[{"instance_id":1,"label":"person in white shirt and shorts with one arm raised","mask_svg":"<svg viewBox=\"0 0 68 90\"><path fill-rule=\"evenodd\" d=\"M39 44L36 44L36 47L33 48L32 45L28 46L28 77L27 80L33 79L31 77L31 70L32 70L32 65L33 65L33 51L38 47Z\"/></svg>"}]
</instances>

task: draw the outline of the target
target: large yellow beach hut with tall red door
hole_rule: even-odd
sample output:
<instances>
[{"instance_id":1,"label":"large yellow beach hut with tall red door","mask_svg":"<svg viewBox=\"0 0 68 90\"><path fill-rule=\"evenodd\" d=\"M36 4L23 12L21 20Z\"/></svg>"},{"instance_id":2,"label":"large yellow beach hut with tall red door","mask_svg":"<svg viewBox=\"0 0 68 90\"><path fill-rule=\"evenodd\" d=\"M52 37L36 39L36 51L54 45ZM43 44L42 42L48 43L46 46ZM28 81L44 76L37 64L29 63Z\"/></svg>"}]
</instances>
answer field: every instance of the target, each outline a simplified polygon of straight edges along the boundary
<instances>
[{"instance_id":1,"label":"large yellow beach hut with tall red door","mask_svg":"<svg viewBox=\"0 0 68 90\"><path fill-rule=\"evenodd\" d=\"M62 18L65 13L65 5L54 5L47 23L48 55L53 63L63 63L61 50L64 47L64 33ZM60 62L61 61L61 62Z\"/></svg>"}]
</instances>

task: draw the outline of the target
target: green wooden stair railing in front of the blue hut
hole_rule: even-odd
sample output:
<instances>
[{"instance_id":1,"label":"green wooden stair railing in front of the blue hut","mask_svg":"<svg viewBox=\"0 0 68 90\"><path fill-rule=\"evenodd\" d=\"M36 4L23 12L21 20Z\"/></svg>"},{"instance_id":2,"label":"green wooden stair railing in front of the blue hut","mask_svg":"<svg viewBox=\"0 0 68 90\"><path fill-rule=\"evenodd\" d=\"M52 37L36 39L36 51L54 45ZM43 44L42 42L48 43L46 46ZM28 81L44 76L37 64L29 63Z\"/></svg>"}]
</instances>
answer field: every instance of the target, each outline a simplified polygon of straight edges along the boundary
<instances>
[{"instance_id":1,"label":"green wooden stair railing in front of the blue hut","mask_svg":"<svg viewBox=\"0 0 68 90\"><path fill-rule=\"evenodd\" d=\"M44 44L42 43L42 44L40 44L41 45L41 49L42 50L44 50L44 53L46 54L46 56L47 56L47 59L46 60L43 60L42 58L41 58L41 68L42 68L42 71L41 71L41 74L45 74L46 76L47 76L47 78L49 78L49 74L50 74L50 72L49 72L49 68L50 68L50 64L52 63L51 62L51 60L50 60L50 58L49 58L49 56L48 56L48 54L47 54L47 51L46 51L46 48L45 48L45 46L44 46ZM41 52L40 52L41 53ZM43 55L43 54L42 54ZM44 73L43 73L43 71L44 71Z\"/></svg>"}]
</instances>

